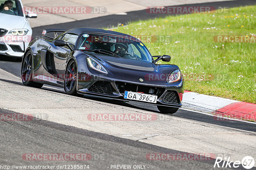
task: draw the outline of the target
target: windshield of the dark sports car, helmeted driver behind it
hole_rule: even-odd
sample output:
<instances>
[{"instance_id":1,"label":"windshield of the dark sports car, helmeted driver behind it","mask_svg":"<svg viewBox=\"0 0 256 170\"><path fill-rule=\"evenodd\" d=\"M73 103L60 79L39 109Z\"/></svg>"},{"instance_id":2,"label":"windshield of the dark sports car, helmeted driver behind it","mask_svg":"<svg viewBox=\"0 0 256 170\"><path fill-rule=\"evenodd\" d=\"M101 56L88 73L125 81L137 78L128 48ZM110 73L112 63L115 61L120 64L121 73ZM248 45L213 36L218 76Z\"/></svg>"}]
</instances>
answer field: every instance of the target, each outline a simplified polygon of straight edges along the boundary
<instances>
[{"instance_id":1,"label":"windshield of the dark sports car, helmeted driver behind it","mask_svg":"<svg viewBox=\"0 0 256 170\"><path fill-rule=\"evenodd\" d=\"M104 34L83 34L78 50L105 53L109 56L152 62L147 48L139 41L129 37Z\"/></svg>"}]
</instances>

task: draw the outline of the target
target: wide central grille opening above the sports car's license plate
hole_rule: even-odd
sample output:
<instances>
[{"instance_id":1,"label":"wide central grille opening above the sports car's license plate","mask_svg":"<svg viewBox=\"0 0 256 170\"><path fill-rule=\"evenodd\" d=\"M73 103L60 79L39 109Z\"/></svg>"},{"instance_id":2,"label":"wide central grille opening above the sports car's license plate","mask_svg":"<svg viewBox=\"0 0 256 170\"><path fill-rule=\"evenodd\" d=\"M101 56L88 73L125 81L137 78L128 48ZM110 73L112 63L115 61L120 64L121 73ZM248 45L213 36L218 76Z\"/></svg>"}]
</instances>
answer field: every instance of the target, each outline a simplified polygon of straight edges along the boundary
<instances>
[{"instance_id":1,"label":"wide central grille opening above the sports car's license plate","mask_svg":"<svg viewBox=\"0 0 256 170\"><path fill-rule=\"evenodd\" d=\"M116 81L118 91L124 95L124 91L142 92L145 94L156 95L158 98L163 95L165 89L153 86L144 86L139 84L132 84L126 82Z\"/></svg>"}]
</instances>

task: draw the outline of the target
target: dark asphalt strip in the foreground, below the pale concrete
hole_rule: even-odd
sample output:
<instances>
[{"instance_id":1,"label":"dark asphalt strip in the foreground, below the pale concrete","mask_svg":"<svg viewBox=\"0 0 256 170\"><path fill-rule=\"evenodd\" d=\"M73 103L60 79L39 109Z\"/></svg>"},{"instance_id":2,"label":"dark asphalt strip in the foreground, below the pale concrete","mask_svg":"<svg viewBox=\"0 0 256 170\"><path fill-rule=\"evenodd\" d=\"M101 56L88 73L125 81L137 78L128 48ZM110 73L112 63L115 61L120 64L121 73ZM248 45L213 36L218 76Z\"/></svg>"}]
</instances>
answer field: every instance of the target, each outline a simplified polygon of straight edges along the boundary
<instances>
[{"instance_id":1,"label":"dark asphalt strip in the foreground, below the pale concrete","mask_svg":"<svg viewBox=\"0 0 256 170\"><path fill-rule=\"evenodd\" d=\"M1 113L15 113L0 109ZM145 160L148 153L185 153L129 139L82 130L37 119L0 122L0 159L2 165L70 165L70 161L25 161L24 153L90 153L88 161L72 161L73 165L89 165L90 169L110 169L111 165L146 165L146 169L213 169L215 159L199 161ZM7 145L6 145L7 144ZM61 163L60 163L61 162ZM232 164L231 164L232 165ZM230 169L230 168L229 168ZM234 168L235 169L235 168ZM243 168L236 168L243 169Z\"/></svg>"}]
</instances>

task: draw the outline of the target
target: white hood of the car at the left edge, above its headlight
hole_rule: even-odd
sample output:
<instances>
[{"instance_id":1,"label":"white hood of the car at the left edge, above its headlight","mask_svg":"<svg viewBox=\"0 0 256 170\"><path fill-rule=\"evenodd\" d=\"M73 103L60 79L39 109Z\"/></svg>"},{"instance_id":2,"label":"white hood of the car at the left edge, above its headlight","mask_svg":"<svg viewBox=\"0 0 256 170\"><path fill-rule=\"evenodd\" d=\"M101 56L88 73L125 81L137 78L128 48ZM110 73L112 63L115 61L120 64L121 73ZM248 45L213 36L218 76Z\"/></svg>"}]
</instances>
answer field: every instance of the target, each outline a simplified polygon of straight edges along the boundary
<instances>
[{"instance_id":1,"label":"white hood of the car at the left edge, above its headlight","mask_svg":"<svg viewBox=\"0 0 256 170\"><path fill-rule=\"evenodd\" d=\"M6 30L11 31L12 29L22 29L26 25L26 18L17 16L17 15L10 15L10 14L3 14L0 13L0 28L4 28Z\"/></svg>"}]
</instances>

